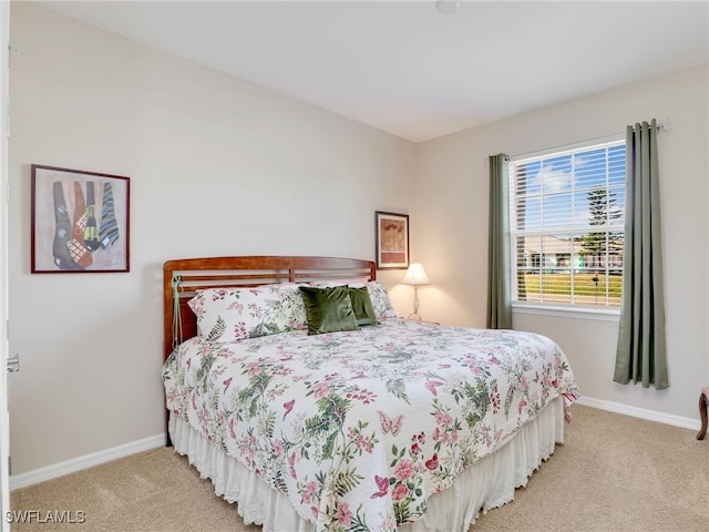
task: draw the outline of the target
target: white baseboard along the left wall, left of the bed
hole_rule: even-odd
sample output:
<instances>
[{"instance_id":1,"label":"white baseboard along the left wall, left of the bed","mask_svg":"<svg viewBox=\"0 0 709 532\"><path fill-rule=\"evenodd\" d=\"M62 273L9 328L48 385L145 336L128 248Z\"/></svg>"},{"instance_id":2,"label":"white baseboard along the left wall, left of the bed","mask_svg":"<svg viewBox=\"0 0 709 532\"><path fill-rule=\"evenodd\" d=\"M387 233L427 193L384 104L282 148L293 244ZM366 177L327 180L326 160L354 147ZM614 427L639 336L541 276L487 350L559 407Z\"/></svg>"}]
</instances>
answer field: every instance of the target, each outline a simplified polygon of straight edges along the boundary
<instances>
[{"instance_id":1,"label":"white baseboard along the left wall, left of the bed","mask_svg":"<svg viewBox=\"0 0 709 532\"><path fill-rule=\"evenodd\" d=\"M10 475L10 491L27 485L44 482L45 480L55 479L64 474L81 471L82 469L92 468L100 463L110 462L116 458L127 457L136 452L147 451L165 444L165 434L157 434L143 440L132 441L123 446L106 449L105 451L94 452L85 457L74 458L65 462L48 466L47 468L35 469L27 473Z\"/></svg>"}]
</instances>

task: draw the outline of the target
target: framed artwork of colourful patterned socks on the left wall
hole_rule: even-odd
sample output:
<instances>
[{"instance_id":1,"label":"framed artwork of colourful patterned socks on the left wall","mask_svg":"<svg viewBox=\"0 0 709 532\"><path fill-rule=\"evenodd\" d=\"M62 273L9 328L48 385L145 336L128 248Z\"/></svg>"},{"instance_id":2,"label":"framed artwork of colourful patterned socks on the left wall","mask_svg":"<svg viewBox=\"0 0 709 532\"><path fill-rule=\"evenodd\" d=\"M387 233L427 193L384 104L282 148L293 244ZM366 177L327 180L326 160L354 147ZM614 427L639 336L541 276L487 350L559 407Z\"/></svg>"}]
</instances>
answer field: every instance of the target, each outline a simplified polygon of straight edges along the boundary
<instances>
[{"instance_id":1,"label":"framed artwork of colourful patterned socks on the left wall","mask_svg":"<svg viewBox=\"0 0 709 532\"><path fill-rule=\"evenodd\" d=\"M33 274L130 272L131 180L32 165Z\"/></svg>"}]
</instances>

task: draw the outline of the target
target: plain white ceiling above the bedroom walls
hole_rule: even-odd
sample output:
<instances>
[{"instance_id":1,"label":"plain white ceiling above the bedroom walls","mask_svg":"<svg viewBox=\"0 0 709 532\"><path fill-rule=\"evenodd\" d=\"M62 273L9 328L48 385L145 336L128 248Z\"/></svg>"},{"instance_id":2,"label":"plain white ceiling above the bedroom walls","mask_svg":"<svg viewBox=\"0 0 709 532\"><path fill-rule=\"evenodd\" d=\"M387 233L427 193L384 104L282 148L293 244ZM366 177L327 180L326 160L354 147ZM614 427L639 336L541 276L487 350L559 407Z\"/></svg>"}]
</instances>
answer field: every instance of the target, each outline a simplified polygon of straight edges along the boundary
<instances>
[{"instance_id":1,"label":"plain white ceiling above the bedroom walls","mask_svg":"<svg viewBox=\"0 0 709 532\"><path fill-rule=\"evenodd\" d=\"M414 142L709 62L709 2L40 1Z\"/></svg>"}]
</instances>

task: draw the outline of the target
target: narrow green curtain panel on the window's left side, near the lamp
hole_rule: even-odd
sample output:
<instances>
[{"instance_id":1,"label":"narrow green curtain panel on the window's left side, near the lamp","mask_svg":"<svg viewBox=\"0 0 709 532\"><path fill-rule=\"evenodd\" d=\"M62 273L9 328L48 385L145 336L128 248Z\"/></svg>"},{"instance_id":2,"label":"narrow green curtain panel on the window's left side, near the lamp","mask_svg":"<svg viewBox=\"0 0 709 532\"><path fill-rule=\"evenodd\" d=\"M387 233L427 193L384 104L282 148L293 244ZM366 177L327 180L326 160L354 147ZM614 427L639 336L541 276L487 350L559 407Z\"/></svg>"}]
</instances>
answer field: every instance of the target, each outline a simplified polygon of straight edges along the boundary
<instances>
[{"instance_id":1,"label":"narrow green curtain panel on the window's left side, near the lamp","mask_svg":"<svg viewBox=\"0 0 709 532\"><path fill-rule=\"evenodd\" d=\"M504 153L490 156L490 242L487 249L489 329L512 328L510 304L510 185Z\"/></svg>"}]
</instances>

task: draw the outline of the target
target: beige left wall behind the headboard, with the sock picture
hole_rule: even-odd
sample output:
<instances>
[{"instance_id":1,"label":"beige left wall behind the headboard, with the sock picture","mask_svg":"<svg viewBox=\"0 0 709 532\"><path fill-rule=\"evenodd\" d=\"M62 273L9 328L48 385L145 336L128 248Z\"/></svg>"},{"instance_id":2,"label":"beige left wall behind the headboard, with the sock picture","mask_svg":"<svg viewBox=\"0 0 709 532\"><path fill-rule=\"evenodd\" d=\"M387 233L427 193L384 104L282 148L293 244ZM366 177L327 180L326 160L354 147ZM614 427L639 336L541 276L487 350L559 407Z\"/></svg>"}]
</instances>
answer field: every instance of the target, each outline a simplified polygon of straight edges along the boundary
<instances>
[{"instance_id":1,"label":"beige left wall behind the headboard, with the sock picture","mask_svg":"<svg viewBox=\"0 0 709 532\"><path fill-rule=\"evenodd\" d=\"M11 24L17 474L162 432L165 260L373 259L374 211L413 205L415 146L25 2ZM30 274L33 163L131 177L131 273Z\"/></svg>"}]
</instances>

